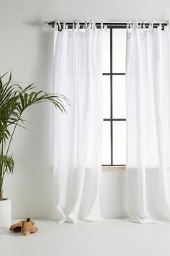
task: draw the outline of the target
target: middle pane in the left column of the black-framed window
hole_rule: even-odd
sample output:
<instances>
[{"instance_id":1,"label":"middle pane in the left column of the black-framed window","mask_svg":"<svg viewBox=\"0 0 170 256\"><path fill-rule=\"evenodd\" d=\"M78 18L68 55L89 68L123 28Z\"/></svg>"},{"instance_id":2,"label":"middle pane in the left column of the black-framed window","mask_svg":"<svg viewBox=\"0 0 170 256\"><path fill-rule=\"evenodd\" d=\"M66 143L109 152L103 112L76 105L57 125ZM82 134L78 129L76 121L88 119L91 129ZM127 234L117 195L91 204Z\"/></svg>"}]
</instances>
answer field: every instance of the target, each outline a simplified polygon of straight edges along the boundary
<instances>
[{"instance_id":1,"label":"middle pane in the left column of the black-framed window","mask_svg":"<svg viewBox=\"0 0 170 256\"><path fill-rule=\"evenodd\" d=\"M103 75L103 118L110 118L110 76Z\"/></svg>"}]
</instances>

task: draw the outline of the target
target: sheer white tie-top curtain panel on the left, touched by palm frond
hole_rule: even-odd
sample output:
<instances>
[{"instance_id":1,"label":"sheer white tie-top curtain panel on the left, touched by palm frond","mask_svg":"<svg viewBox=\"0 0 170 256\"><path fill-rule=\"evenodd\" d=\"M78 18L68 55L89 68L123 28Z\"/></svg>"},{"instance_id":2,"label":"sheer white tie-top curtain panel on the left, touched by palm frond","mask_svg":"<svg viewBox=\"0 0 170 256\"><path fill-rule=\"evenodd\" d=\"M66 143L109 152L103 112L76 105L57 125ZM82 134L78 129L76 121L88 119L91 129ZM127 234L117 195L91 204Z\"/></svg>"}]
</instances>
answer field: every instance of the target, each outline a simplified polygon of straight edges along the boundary
<instances>
[{"instance_id":1,"label":"sheer white tie-top curtain panel on the left, touched by palm frond","mask_svg":"<svg viewBox=\"0 0 170 256\"><path fill-rule=\"evenodd\" d=\"M102 29L94 24L55 29L54 93L71 104L68 114L54 111L53 219L101 219L99 183L102 149Z\"/></svg>"}]
</instances>

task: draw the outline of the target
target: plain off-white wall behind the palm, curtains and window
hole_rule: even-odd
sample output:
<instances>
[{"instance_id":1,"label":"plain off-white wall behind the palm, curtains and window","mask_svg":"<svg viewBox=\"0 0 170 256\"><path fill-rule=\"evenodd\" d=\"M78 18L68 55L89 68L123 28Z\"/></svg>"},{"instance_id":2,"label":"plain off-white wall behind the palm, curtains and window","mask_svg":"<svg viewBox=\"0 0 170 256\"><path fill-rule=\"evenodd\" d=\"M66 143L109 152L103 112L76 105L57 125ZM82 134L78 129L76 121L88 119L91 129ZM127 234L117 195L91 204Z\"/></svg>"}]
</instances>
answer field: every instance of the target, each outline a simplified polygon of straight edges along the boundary
<instances>
[{"instance_id":1,"label":"plain off-white wall behind the palm, curtains and window","mask_svg":"<svg viewBox=\"0 0 170 256\"><path fill-rule=\"evenodd\" d=\"M34 82L52 91L53 29L45 20L167 20L170 2L113 0L1 0L0 74L12 69L13 80ZM12 216L49 217L52 195L52 110L27 111L27 130L18 129L12 152L15 170L6 176L4 195L12 198ZM102 173L101 201L105 217L123 216L124 171Z\"/></svg>"}]
</instances>

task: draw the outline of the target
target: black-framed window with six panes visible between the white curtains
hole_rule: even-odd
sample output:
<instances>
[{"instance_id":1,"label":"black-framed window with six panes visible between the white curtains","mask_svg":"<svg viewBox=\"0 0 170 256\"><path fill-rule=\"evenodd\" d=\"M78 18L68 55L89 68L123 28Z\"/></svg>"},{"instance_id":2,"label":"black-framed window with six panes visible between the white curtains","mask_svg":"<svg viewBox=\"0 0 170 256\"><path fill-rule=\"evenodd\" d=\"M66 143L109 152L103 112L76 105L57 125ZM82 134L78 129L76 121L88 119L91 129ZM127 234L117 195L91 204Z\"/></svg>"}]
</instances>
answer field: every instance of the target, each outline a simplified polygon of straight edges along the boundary
<instances>
[{"instance_id":1,"label":"black-framed window with six panes visible between the white curtains","mask_svg":"<svg viewBox=\"0 0 170 256\"><path fill-rule=\"evenodd\" d=\"M102 166L126 164L125 47L126 30L104 33Z\"/></svg>"}]
</instances>

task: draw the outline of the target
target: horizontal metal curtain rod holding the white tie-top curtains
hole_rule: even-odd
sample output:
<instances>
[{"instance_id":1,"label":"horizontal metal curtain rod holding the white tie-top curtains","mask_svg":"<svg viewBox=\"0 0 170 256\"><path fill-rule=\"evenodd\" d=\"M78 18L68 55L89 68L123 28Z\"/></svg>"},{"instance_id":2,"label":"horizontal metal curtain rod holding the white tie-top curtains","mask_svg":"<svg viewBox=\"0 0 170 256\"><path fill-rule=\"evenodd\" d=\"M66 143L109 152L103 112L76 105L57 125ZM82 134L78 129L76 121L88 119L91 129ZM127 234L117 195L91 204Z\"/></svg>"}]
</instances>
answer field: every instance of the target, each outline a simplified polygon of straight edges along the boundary
<instances>
[{"instance_id":1,"label":"horizontal metal curtain rod holding the white tie-top curtains","mask_svg":"<svg viewBox=\"0 0 170 256\"><path fill-rule=\"evenodd\" d=\"M126 28L127 27L127 24L128 24L128 22L99 22L99 21L97 21L97 22L95 22L95 21L93 21L93 20L91 20L91 21L89 21L89 22L83 22L83 21L59 21L59 20L53 20L53 21L50 21L50 22L48 22L48 21L45 21L45 26L50 26L50 27L55 27L55 25L61 25L61 27L63 28L63 24L65 23L66 25L68 25L68 27L71 27L71 25L73 25L73 24L77 24L77 22L79 22L79 25L85 25L85 24L87 24L87 25L89 25L91 22L94 22L96 25L97 25L97 27L99 27L99 26L101 26L101 24L102 25L104 25L104 26L107 26L107 27L115 27L115 28ZM130 21L130 22L133 22L133 21ZM161 21L155 21L155 20L153 20L153 22L148 22L148 21L135 21L135 22L138 22L138 24L140 25L140 23L145 23L145 25L146 26L149 26L151 23L153 24L153 27L158 27L158 25L162 25L162 26L167 26L167 25L169 25L169 20L168 21L163 21L163 22L161 22Z\"/></svg>"}]
</instances>

